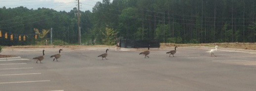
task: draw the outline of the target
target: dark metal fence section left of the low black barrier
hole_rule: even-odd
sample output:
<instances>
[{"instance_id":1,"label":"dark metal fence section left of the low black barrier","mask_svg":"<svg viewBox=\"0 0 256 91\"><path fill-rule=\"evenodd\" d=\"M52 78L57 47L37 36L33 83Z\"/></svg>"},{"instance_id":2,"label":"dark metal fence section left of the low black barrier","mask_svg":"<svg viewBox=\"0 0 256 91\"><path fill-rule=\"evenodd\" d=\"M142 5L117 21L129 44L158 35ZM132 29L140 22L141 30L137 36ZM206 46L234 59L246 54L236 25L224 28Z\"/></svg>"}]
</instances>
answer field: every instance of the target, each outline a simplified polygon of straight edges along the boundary
<instances>
[{"instance_id":1,"label":"dark metal fence section left of the low black barrier","mask_svg":"<svg viewBox=\"0 0 256 91\"><path fill-rule=\"evenodd\" d=\"M82 45L114 45L117 39L107 39L104 36L90 35L81 37ZM62 38L38 38L26 37L26 40L14 38L0 38L0 45L17 46L17 45L79 45L78 37L62 37Z\"/></svg>"}]
</instances>

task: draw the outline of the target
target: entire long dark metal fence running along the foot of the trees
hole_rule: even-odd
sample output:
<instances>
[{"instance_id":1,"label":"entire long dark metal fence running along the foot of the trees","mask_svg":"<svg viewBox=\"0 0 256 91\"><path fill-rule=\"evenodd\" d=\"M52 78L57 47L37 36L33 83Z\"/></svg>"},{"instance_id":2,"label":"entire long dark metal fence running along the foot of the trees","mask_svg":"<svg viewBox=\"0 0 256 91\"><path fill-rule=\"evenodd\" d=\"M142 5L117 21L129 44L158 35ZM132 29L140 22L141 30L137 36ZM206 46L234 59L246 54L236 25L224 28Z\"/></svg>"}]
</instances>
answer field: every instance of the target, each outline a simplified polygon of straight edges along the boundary
<instances>
[{"instance_id":1,"label":"entire long dark metal fence running along the foot of the trees","mask_svg":"<svg viewBox=\"0 0 256 91\"><path fill-rule=\"evenodd\" d=\"M184 37L172 37L172 36L159 36L159 37L138 37L130 35L129 37L112 37L108 38L100 35L87 35L81 37L82 45L116 45L120 39L131 39L134 41L139 40L158 40L160 43L204 43L203 40L207 39L185 39ZM228 40L228 39L227 39ZM219 41L222 42L222 41ZM58 38L38 38L33 36L26 37L26 40L14 38L5 39L0 38L0 45L3 46L17 46L17 45L79 45L78 37L58 37Z\"/></svg>"}]
</instances>

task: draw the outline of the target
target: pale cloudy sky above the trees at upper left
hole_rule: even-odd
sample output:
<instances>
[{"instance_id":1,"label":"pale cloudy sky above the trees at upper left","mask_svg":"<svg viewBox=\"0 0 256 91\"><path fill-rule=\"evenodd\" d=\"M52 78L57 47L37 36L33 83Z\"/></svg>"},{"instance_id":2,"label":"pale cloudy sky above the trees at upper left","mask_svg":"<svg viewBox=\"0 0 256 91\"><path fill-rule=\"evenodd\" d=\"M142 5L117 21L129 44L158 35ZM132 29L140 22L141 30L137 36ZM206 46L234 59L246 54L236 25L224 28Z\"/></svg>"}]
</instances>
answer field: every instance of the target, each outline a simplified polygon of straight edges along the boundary
<instances>
[{"instance_id":1,"label":"pale cloudy sky above the trees at upper left","mask_svg":"<svg viewBox=\"0 0 256 91\"><path fill-rule=\"evenodd\" d=\"M102 0L79 0L80 1L80 11L92 11L94 5ZM111 0L112 1L112 0ZM66 11L69 12L74 7L77 6L77 0L0 0L0 8L15 8L19 6L27 7L28 9L33 8L52 8L56 11Z\"/></svg>"}]
</instances>

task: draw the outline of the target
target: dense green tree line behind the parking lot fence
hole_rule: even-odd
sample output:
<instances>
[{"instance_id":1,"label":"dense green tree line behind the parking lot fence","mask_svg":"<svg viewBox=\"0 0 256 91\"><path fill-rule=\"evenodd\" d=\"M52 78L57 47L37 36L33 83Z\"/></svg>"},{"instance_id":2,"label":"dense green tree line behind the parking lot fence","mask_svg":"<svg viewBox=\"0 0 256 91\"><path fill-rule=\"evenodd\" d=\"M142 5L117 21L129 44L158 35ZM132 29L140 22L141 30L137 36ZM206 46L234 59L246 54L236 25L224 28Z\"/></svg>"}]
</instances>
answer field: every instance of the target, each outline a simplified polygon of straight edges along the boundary
<instances>
[{"instance_id":1,"label":"dense green tree line behind the parking lot fence","mask_svg":"<svg viewBox=\"0 0 256 91\"><path fill-rule=\"evenodd\" d=\"M255 0L102 0L92 11L81 9L81 34L105 36L108 28L117 37L161 42L255 42L255 4ZM34 28L53 28L54 37L78 37L77 12L77 8L66 12L3 7L0 29L33 35Z\"/></svg>"}]
</instances>

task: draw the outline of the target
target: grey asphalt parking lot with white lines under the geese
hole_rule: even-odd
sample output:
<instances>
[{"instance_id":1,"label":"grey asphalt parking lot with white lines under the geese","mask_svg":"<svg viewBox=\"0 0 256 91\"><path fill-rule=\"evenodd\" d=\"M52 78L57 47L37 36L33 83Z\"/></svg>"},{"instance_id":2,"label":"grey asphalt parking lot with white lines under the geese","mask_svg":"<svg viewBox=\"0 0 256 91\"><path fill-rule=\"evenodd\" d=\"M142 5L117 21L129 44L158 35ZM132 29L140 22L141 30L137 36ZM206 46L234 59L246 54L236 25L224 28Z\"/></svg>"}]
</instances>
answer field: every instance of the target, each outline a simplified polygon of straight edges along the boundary
<instances>
[{"instance_id":1,"label":"grey asphalt parking lot with white lines under the geese","mask_svg":"<svg viewBox=\"0 0 256 91\"><path fill-rule=\"evenodd\" d=\"M1 91L255 91L256 54L205 49L108 51L63 50L59 60L46 50L43 63L33 60L0 61ZM41 56L41 51L2 52L22 58Z\"/></svg>"}]
</instances>

